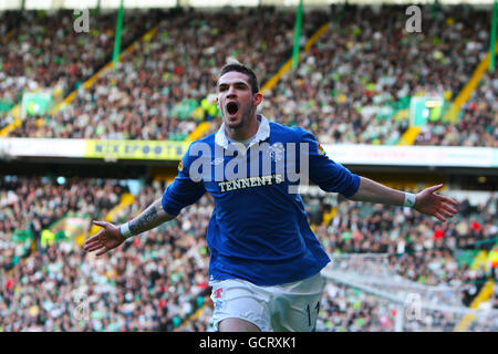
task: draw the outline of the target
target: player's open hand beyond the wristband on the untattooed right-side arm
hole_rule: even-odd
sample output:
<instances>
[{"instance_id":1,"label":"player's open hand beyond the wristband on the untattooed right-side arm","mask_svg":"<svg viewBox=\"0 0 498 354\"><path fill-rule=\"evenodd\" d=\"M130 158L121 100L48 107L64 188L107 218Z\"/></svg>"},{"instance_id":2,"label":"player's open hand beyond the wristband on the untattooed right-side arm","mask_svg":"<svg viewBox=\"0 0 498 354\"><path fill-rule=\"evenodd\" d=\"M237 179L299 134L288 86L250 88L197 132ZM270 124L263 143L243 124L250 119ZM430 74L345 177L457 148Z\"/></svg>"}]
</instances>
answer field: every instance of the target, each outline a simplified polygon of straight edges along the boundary
<instances>
[{"instance_id":1,"label":"player's open hand beyond the wristband on the untattooed right-side arm","mask_svg":"<svg viewBox=\"0 0 498 354\"><path fill-rule=\"evenodd\" d=\"M458 206L458 201L436 195L435 191L440 188L443 188L443 185L433 186L418 192L413 208L422 214L436 217L444 222L447 218L453 218L458 212L457 209L452 207Z\"/></svg>"}]
</instances>

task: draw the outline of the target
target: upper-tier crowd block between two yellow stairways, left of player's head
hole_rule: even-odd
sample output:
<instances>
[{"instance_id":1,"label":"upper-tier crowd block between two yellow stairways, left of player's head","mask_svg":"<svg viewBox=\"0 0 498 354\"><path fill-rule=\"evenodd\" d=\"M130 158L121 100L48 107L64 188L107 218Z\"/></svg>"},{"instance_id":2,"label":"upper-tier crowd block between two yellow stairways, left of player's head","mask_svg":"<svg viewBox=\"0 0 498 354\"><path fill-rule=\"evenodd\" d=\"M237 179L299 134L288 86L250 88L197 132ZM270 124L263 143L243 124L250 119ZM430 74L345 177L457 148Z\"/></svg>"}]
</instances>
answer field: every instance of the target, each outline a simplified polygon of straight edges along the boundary
<instances>
[{"instance_id":1,"label":"upper-tier crowd block between two yellow stairways, left of player's head","mask_svg":"<svg viewBox=\"0 0 498 354\"><path fill-rule=\"evenodd\" d=\"M304 33L325 19L310 13ZM216 116L211 95L225 62L243 58L266 82L290 55L293 23L292 12L273 8L167 17L66 108L24 121L12 136L184 139Z\"/></svg>"}]
</instances>

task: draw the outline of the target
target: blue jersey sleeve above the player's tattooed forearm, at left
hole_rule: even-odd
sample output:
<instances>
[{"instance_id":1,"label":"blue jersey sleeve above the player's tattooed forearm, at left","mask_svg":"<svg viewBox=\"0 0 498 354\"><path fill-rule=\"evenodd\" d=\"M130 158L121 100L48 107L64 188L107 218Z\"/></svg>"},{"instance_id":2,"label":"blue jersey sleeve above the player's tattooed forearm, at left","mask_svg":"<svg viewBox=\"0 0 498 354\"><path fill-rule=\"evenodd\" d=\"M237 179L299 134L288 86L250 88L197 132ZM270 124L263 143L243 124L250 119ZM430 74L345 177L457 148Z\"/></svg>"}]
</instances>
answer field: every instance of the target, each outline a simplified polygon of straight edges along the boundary
<instances>
[{"instance_id":1,"label":"blue jersey sleeve above the player's tattooed forearm, at left","mask_svg":"<svg viewBox=\"0 0 498 354\"><path fill-rule=\"evenodd\" d=\"M203 197L206 192L203 181L194 181L189 176L189 168L196 156L190 156L191 145L178 165L178 176L163 194L163 209L177 216L183 208L189 206Z\"/></svg>"}]
</instances>

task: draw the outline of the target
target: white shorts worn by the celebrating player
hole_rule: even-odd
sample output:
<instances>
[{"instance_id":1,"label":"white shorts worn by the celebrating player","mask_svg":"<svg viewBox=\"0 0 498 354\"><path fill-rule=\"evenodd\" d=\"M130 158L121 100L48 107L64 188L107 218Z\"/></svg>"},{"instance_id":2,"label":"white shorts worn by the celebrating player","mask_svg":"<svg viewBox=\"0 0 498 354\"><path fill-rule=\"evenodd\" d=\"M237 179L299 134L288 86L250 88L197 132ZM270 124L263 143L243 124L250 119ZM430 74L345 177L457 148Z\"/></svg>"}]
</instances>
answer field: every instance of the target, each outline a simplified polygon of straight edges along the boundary
<instances>
[{"instance_id":1,"label":"white shorts worn by the celebrating player","mask_svg":"<svg viewBox=\"0 0 498 354\"><path fill-rule=\"evenodd\" d=\"M225 319L242 319L262 332L314 331L325 280L320 273L282 285L259 287L246 280L210 281L215 304L212 325Z\"/></svg>"}]
</instances>

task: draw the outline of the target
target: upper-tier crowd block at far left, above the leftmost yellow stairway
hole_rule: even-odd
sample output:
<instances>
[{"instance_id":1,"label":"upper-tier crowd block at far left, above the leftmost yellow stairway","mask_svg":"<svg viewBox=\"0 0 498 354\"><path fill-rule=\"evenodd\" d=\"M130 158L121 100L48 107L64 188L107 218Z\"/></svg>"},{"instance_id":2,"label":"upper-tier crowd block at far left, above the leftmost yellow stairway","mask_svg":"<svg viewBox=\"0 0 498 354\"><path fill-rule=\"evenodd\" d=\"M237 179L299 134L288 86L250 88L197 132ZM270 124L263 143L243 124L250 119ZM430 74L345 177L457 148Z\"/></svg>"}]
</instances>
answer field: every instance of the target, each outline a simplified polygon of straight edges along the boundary
<instances>
[{"instance_id":1,"label":"upper-tier crowd block at far left, above the leftmost yellow stairway","mask_svg":"<svg viewBox=\"0 0 498 354\"><path fill-rule=\"evenodd\" d=\"M160 11L128 11L122 45L151 29ZM25 92L52 90L54 100L76 90L111 60L115 13L89 13L87 32L75 32L71 10L10 13L17 25L0 45L0 101L6 108L21 103ZM28 117L28 119L32 119ZM34 118L35 119L35 118ZM13 122L0 110L0 128Z\"/></svg>"}]
</instances>

